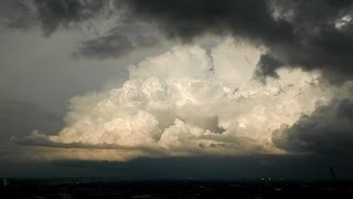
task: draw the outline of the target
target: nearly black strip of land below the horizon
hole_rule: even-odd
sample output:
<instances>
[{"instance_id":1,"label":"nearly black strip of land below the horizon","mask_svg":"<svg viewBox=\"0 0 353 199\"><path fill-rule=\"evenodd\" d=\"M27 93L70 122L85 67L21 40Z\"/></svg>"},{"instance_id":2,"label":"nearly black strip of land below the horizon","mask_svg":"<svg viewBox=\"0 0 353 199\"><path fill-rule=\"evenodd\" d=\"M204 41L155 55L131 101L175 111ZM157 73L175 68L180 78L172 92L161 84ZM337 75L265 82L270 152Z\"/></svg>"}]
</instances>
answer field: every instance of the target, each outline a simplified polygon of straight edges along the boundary
<instances>
[{"instance_id":1,"label":"nearly black strip of land below the horizon","mask_svg":"<svg viewBox=\"0 0 353 199\"><path fill-rule=\"evenodd\" d=\"M204 181L106 179L8 179L1 199L100 199L100 198L353 198L353 182Z\"/></svg>"}]
</instances>

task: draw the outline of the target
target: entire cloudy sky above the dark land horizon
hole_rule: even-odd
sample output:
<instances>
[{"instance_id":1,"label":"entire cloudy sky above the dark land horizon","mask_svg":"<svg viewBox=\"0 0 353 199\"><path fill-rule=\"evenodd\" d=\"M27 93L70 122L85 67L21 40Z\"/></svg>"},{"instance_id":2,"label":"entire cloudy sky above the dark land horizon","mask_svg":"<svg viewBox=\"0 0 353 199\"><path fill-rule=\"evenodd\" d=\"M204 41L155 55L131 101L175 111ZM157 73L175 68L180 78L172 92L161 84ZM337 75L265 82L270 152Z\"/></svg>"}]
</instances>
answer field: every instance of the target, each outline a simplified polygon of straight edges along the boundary
<instances>
[{"instance_id":1,"label":"entire cloudy sky above the dark land horizon","mask_svg":"<svg viewBox=\"0 0 353 199\"><path fill-rule=\"evenodd\" d=\"M352 179L352 14L2 0L0 177Z\"/></svg>"}]
</instances>

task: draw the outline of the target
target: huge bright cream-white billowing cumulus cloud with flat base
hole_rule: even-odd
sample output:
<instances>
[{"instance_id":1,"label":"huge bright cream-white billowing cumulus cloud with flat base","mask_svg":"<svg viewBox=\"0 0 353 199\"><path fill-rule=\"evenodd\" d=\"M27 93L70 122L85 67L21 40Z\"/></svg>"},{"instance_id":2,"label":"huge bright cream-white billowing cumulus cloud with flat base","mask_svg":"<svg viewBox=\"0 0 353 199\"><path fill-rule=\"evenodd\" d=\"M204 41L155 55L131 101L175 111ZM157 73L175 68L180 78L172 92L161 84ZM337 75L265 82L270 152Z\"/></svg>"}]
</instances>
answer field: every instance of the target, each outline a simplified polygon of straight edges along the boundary
<instances>
[{"instance_id":1,"label":"huge bright cream-white billowing cumulus cloud with flat base","mask_svg":"<svg viewBox=\"0 0 353 199\"><path fill-rule=\"evenodd\" d=\"M280 69L279 78L269 77L267 84L254 80L260 53L232 40L211 53L197 45L175 46L129 66L122 86L72 98L66 127L45 137L67 148L87 146L65 148L61 158L282 153L271 133L312 113L331 94L320 88L320 74L313 72Z\"/></svg>"}]
</instances>

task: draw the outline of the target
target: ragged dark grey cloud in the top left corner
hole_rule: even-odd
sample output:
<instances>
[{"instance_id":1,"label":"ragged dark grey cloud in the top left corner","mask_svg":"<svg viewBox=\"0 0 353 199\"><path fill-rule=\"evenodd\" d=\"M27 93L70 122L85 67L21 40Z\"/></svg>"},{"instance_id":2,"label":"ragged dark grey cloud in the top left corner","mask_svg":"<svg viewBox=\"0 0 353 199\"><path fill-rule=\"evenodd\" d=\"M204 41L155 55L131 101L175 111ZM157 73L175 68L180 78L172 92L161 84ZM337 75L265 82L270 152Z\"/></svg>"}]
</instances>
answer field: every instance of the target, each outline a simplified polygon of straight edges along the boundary
<instances>
[{"instance_id":1,"label":"ragged dark grey cloud in the top left corner","mask_svg":"<svg viewBox=\"0 0 353 199\"><path fill-rule=\"evenodd\" d=\"M40 25L46 35L104 14L107 3L94 0L4 0L2 22L10 28ZM107 1L108 2L108 1Z\"/></svg>"}]
</instances>

